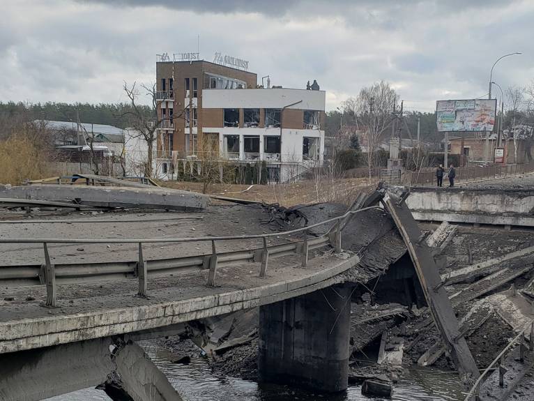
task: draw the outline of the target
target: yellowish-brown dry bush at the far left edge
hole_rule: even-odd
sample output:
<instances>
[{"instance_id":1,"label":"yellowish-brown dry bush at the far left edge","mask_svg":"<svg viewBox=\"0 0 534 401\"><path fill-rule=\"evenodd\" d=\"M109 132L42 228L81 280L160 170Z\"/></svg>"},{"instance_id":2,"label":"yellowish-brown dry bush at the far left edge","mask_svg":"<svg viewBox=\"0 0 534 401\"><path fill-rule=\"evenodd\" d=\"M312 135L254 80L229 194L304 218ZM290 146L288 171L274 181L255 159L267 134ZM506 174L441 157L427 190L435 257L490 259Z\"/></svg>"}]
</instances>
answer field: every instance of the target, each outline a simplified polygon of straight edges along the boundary
<instances>
[{"instance_id":1,"label":"yellowish-brown dry bush at the far left edge","mask_svg":"<svg viewBox=\"0 0 534 401\"><path fill-rule=\"evenodd\" d=\"M19 185L25 179L54 175L48 165L47 153L33 142L13 135L0 142L0 183Z\"/></svg>"}]
</instances>

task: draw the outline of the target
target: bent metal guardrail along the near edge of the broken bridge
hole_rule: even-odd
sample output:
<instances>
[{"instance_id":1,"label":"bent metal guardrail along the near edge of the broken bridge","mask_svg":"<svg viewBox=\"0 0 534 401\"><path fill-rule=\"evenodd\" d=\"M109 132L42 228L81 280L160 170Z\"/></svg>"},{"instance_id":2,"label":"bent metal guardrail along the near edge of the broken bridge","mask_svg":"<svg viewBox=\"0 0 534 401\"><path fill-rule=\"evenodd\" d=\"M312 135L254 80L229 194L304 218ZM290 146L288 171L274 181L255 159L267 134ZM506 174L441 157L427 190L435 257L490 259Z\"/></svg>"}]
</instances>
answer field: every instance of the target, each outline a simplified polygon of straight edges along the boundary
<instances>
[{"instance_id":1,"label":"bent metal guardrail along the near edge of the broken bridge","mask_svg":"<svg viewBox=\"0 0 534 401\"><path fill-rule=\"evenodd\" d=\"M46 285L47 298L45 305L54 307L56 305L56 278L66 282L85 282L91 278L128 278L129 276L137 277L139 280L139 289L137 295L146 296L148 282L148 271L158 274L171 274L176 271L188 269L207 269L209 268L208 281L206 285L215 286L215 275L218 266L222 264L235 264L244 262L261 262L259 277L264 278L268 268L269 257L280 257L289 255L294 252L300 252L302 255L302 266L305 267L308 262L308 252L314 248L330 243L337 254L341 253L341 231L342 220L349 218L350 215L367 211L370 209L380 209L378 206L369 206L355 211L347 211L343 215L335 218L323 220L313 225L292 229L285 232L275 232L270 234L250 234L238 236L202 236L194 238L171 238L171 239L0 239L0 243L42 243L45 255L44 264L25 265L25 266L0 266L0 283L1 285ZM335 222L335 227L328 230L326 234L318 237L308 238L307 232L321 225ZM303 239L291 241L278 245L267 245L267 239L273 236L286 236L291 234L303 233ZM232 241L244 239L262 239L263 247L250 250L238 250L234 252L217 252L215 241ZM183 242L201 242L211 241L212 252L209 255L197 255L191 257L178 257L172 259L155 259L145 262L143 257L143 243L183 243ZM137 243L137 261L130 262L95 262L84 264L52 264L49 257L48 244L50 243ZM150 268L148 268L150 266Z\"/></svg>"}]
</instances>

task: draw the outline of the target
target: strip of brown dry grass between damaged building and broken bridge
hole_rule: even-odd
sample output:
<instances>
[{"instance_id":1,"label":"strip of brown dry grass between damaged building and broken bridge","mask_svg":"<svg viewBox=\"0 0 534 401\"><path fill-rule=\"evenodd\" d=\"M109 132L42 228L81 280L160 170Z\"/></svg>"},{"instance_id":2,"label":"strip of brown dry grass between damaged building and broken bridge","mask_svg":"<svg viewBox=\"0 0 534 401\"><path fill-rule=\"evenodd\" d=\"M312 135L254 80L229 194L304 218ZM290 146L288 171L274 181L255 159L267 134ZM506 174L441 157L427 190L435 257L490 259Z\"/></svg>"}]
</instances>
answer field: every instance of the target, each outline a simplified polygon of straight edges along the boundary
<instances>
[{"instance_id":1,"label":"strip of brown dry grass between damaged building and broken bridge","mask_svg":"<svg viewBox=\"0 0 534 401\"><path fill-rule=\"evenodd\" d=\"M212 184L206 193L222 195L238 199L254 200L265 203L277 203L282 206L295 206L297 204L312 204L316 202L337 202L349 205L356 199L359 192L368 192L376 188L376 179L335 179L304 180L296 183L277 185L249 185L241 184ZM182 181L160 181L160 186L202 192L203 183ZM248 190L247 190L248 189Z\"/></svg>"}]
</instances>

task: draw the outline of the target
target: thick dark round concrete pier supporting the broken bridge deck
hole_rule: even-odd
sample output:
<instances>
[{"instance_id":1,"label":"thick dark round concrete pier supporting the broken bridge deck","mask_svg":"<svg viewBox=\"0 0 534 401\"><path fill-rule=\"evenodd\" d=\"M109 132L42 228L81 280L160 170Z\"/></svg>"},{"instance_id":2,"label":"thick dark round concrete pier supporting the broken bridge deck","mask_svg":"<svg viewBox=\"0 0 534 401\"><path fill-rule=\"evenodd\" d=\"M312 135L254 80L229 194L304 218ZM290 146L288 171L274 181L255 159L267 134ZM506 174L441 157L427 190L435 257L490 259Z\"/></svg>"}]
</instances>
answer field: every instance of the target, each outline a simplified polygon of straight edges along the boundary
<instances>
[{"instance_id":1,"label":"thick dark round concrete pier supporting the broken bridge deck","mask_svg":"<svg viewBox=\"0 0 534 401\"><path fill-rule=\"evenodd\" d=\"M259 380L344 391L351 287L334 286L259 309Z\"/></svg>"}]
</instances>

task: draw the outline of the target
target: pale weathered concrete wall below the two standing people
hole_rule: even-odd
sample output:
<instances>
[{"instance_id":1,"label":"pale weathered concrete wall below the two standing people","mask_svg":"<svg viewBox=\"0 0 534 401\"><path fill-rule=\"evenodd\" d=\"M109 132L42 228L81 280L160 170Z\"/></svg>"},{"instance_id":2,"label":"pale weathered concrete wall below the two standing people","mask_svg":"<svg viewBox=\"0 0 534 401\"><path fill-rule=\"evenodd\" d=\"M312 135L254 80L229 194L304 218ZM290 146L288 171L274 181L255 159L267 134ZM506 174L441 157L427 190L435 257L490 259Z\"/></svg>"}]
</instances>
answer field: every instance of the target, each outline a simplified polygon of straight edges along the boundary
<instances>
[{"instance_id":1,"label":"pale weathered concrete wall below the two standing people","mask_svg":"<svg viewBox=\"0 0 534 401\"><path fill-rule=\"evenodd\" d=\"M415 188L406 199L406 204L412 211L528 215L534 211L534 190Z\"/></svg>"}]
</instances>

